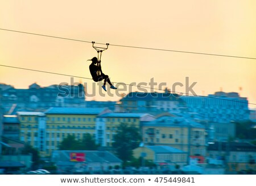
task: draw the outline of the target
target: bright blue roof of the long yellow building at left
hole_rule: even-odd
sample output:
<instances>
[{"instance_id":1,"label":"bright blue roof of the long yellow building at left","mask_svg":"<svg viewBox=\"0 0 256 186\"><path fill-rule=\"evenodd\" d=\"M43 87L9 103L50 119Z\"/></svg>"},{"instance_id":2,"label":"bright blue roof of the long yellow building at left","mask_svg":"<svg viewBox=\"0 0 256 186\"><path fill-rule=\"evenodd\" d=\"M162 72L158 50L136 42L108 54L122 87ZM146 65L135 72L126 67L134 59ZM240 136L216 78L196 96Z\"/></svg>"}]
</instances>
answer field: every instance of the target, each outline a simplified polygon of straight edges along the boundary
<instances>
[{"instance_id":1,"label":"bright blue roof of the long yellow building at left","mask_svg":"<svg viewBox=\"0 0 256 186\"><path fill-rule=\"evenodd\" d=\"M49 108L46 114L100 114L105 108Z\"/></svg>"}]
</instances>

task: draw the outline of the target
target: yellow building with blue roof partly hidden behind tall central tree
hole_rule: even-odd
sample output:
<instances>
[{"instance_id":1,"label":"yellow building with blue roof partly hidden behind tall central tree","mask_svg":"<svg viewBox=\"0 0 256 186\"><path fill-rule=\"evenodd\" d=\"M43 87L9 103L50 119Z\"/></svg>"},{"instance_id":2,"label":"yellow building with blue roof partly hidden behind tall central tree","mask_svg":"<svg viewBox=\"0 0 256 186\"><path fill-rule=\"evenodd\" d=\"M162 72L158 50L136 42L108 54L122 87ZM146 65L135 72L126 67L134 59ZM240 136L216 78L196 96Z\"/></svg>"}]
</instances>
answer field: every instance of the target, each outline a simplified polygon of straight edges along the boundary
<instances>
[{"instance_id":1,"label":"yellow building with blue roof partly hidden behind tall central tree","mask_svg":"<svg viewBox=\"0 0 256 186\"><path fill-rule=\"evenodd\" d=\"M113 137L117 134L118 126L121 123L134 125L141 130L141 122L155 119L150 114L140 113L106 113L98 115L96 122L96 142L102 147L111 147Z\"/></svg>"}]
</instances>

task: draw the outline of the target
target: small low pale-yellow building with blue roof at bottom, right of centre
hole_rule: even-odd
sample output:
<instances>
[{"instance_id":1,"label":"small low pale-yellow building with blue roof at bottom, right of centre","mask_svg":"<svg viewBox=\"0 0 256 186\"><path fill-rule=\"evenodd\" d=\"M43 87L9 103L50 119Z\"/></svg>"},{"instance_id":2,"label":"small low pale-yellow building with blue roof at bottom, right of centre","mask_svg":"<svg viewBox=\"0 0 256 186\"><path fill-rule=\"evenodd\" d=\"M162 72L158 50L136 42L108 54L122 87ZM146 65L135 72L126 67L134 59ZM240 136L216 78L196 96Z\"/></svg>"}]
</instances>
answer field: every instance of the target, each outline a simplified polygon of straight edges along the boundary
<instances>
[{"instance_id":1,"label":"small low pale-yellow building with blue roof at bottom, right of centre","mask_svg":"<svg viewBox=\"0 0 256 186\"><path fill-rule=\"evenodd\" d=\"M143 146L133 150L134 158L143 157L151 160L159 168L175 170L175 166L183 167L187 164L188 154L170 146Z\"/></svg>"}]
</instances>

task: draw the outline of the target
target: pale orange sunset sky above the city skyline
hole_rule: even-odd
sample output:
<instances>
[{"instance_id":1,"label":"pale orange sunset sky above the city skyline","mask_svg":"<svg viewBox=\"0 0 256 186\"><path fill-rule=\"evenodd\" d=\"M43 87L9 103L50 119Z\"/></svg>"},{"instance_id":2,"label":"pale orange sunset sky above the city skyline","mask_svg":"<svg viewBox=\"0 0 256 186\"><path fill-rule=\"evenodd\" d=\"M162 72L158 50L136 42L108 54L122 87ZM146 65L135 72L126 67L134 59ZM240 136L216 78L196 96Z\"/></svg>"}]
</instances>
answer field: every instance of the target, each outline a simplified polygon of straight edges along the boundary
<instances>
[{"instance_id":1,"label":"pale orange sunset sky above the city skyline","mask_svg":"<svg viewBox=\"0 0 256 186\"><path fill-rule=\"evenodd\" d=\"M256 57L256 1L0 1L0 28L110 43L102 70L114 82L197 82L196 94L239 92L256 104L256 60L154 51ZM91 77L90 43L0 30L0 64ZM70 82L70 77L0 67L0 82L28 88ZM75 78L92 91L91 80ZM118 85L117 85L118 86ZM149 86L149 85L147 85ZM239 88L242 87L242 90ZM158 88L158 86L155 86ZM96 88L96 92L98 89ZM132 89L137 90L136 88ZM108 90L112 93L115 90ZM150 91L150 90L148 90ZM185 86L177 91L185 92ZM119 92L121 93L121 92ZM123 93L128 93L123 91ZM87 100L117 101L96 96ZM255 108L255 105L250 105Z\"/></svg>"}]
</instances>

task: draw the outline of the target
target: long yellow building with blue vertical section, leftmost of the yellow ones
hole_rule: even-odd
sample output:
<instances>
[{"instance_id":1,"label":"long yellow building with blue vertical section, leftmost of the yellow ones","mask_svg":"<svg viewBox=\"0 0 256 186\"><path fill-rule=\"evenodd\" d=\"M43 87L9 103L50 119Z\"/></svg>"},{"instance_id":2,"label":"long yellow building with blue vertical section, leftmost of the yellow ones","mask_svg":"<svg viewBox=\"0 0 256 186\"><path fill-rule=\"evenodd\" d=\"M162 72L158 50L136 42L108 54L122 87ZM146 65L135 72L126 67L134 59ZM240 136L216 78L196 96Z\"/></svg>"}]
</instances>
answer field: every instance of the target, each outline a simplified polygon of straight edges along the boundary
<instances>
[{"instance_id":1,"label":"long yellow building with blue vertical section, leftmost of the yellow ones","mask_svg":"<svg viewBox=\"0 0 256 186\"><path fill-rule=\"evenodd\" d=\"M68 136L76 139L89 133L95 137L96 117L108 113L104 108L50 108L46 112L18 112L20 140L38 148L42 157L50 156Z\"/></svg>"}]
</instances>

